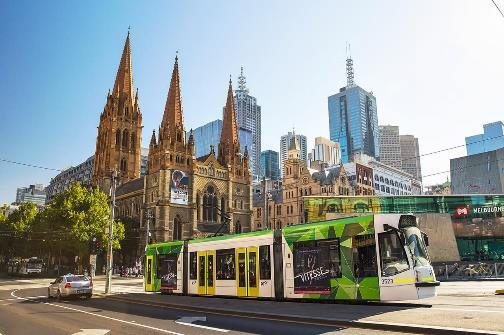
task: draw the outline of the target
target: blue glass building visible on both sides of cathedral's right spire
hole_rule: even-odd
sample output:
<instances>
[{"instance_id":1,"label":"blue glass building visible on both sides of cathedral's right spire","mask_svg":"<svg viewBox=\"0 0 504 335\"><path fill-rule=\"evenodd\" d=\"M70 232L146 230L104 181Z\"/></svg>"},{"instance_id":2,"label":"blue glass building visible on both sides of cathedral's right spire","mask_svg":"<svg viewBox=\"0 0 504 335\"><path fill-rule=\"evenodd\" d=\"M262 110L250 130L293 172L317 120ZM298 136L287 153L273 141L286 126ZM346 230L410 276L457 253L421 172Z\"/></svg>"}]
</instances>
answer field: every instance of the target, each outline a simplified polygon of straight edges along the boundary
<instances>
[{"instance_id":1,"label":"blue glass building visible on both sides of cathedral's right spire","mask_svg":"<svg viewBox=\"0 0 504 335\"><path fill-rule=\"evenodd\" d=\"M217 119L215 121L209 122L201 127L193 130L194 137L194 147L196 157L202 157L208 155L210 152L210 147L213 146L214 150L217 149L219 145L220 137L222 132L222 120ZM186 134L186 138L189 138L189 132ZM239 127L238 137L240 139L240 150L242 153L245 152L245 146L249 152L253 145L254 136L250 130ZM252 164L252 163L250 163Z\"/></svg>"}]
</instances>

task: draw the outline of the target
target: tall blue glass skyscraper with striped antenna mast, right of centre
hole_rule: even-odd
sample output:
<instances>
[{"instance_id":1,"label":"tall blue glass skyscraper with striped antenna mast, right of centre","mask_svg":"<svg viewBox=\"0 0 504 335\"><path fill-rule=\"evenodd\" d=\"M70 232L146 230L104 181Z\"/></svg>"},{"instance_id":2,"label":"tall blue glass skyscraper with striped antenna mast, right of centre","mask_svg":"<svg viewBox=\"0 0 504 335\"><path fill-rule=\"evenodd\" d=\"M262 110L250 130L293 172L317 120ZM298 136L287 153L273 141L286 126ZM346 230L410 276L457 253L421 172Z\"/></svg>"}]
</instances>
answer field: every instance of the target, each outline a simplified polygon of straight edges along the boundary
<instances>
[{"instance_id":1,"label":"tall blue glass skyscraper with striped antenna mast, right of centre","mask_svg":"<svg viewBox=\"0 0 504 335\"><path fill-rule=\"evenodd\" d=\"M328 98L328 109L331 141L340 144L343 163L355 153L380 158L376 98L355 85L351 58L347 59L347 86Z\"/></svg>"}]
</instances>

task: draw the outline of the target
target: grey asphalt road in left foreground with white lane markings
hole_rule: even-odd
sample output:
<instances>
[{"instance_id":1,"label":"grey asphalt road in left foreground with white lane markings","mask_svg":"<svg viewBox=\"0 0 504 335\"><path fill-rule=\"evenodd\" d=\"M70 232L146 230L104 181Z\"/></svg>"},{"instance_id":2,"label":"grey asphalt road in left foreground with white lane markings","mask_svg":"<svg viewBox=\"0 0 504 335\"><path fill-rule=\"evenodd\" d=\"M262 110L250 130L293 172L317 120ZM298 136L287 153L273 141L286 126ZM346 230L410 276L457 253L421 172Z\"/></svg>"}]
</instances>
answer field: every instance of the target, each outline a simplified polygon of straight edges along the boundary
<instances>
[{"instance_id":1,"label":"grey asphalt road in left foreground with white lane markings","mask_svg":"<svg viewBox=\"0 0 504 335\"><path fill-rule=\"evenodd\" d=\"M56 301L46 294L45 288L1 290L0 334L399 334L205 315L103 298Z\"/></svg>"}]
</instances>

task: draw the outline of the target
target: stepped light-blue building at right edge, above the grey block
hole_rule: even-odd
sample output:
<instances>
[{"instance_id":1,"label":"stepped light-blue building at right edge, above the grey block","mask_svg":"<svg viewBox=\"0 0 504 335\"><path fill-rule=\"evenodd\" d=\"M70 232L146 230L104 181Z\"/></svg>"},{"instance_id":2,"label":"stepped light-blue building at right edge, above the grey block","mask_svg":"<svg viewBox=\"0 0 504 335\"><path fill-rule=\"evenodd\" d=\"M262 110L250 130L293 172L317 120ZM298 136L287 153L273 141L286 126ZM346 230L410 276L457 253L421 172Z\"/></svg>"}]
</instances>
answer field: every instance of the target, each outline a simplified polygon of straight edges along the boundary
<instances>
[{"instance_id":1,"label":"stepped light-blue building at right edge, above the grey block","mask_svg":"<svg viewBox=\"0 0 504 335\"><path fill-rule=\"evenodd\" d=\"M504 148L504 124L501 121L483 125L483 134L466 137L467 155Z\"/></svg>"}]
</instances>

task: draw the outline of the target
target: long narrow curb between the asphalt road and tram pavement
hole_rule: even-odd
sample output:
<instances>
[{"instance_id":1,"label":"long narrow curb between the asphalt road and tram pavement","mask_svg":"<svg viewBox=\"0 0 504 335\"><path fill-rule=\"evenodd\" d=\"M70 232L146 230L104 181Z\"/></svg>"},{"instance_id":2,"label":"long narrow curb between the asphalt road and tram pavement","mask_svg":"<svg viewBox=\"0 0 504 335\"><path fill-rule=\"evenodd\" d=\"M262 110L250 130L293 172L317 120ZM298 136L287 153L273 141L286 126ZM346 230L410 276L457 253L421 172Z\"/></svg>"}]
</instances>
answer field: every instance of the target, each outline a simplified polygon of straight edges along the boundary
<instances>
[{"instance_id":1,"label":"long narrow curb between the asphalt road and tram pavement","mask_svg":"<svg viewBox=\"0 0 504 335\"><path fill-rule=\"evenodd\" d=\"M440 327L440 326L425 326L418 324L402 324L402 323L386 323L379 321L351 321L351 320L337 320L337 319L323 319L318 317L306 317L301 315L286 315L286 314L267 314L261 312L252 311L239 311L239 310L229 310L222 308L210 308L201 306L190 306L182 304L173 303L162 303L162 302L148 302L139 301L135 299L128 299L121 297L120 295L99 295L102 298L134 303L137 305L145 305L151 307L161 307L161 308L173 308L179 310L186 310L192 312L202 312L207 314L216 315L226 315L243 317L250 319L263 319L269 321L281 321L281 322L292 322L292 323L303 323L303 324L313 324L320 326L332 326L332 327L343 327L343 328L361 328L361 329L371 329L371 330L382 330L382 331L396 331L396 332L409 332L417 334L432 334L432 335L504 335L502 332L497 331L487 331L487 330L477 330L477 329L465 329L465 328L451 328L451 327Z\"/></svg>"}]
</instances>

